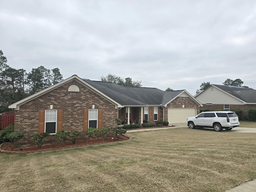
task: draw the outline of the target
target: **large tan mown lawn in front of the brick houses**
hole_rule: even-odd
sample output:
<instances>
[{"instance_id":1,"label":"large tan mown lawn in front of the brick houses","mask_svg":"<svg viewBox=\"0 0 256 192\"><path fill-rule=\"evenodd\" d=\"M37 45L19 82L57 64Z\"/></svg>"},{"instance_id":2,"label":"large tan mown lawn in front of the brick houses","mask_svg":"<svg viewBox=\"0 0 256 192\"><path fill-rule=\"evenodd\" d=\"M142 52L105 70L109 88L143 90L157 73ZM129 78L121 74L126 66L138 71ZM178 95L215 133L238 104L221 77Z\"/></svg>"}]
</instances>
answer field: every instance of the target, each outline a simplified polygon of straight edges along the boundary
<instances>
[{"instance_id":1,"label":"large tan mown lawn in front of the brick houses","mask_svg":"<svg viewBox=\"0 0 256 192\"><path fill-rule=\"evenodd\" d=\"M0 154L2 192L222 192L256 178L256 133L174 128L128 142Z\"/></svg>"}]
</instances>

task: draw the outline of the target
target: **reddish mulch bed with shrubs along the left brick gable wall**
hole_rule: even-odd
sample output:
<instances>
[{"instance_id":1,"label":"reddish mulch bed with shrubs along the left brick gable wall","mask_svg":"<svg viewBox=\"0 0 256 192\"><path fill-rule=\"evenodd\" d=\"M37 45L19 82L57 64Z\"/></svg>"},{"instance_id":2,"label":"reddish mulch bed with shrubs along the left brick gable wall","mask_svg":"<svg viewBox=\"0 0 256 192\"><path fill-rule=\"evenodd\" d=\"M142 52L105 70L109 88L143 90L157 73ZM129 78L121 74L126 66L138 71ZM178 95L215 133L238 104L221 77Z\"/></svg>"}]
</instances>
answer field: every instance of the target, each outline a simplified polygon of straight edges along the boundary
<instances>
[{"instance_id":1,"label":"reddish mulch bed with shrubs along the left brick gable wall","mask_svg":"<svg viewBox=\"0 0 256 192\"><path fill-rule=\"evenodd\" d=\"M131 138L125 135L119 135L117 140L108 138L105 140L102 139L93 139L87 141L77 141L75 144L72 142L65 142L61 145L54 144L54 145L46 145L44 144L41 148L33 147L33 148L22 148L19 151L17 147L14 147L12 142L6 142L0 145L0 152L7 152L7 153L28 153L28 152L38 152L38 151L47 151L47 150L56 150L56 149L64 149L64 148L72 148L72 147L81 147L81 146L89 146L89 145L96 145L96 144L104 144L104 143L113 143L113 142L120 142L130 140Z\"/></svg>"}]
</instances>

